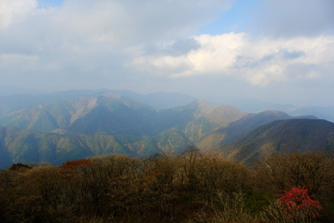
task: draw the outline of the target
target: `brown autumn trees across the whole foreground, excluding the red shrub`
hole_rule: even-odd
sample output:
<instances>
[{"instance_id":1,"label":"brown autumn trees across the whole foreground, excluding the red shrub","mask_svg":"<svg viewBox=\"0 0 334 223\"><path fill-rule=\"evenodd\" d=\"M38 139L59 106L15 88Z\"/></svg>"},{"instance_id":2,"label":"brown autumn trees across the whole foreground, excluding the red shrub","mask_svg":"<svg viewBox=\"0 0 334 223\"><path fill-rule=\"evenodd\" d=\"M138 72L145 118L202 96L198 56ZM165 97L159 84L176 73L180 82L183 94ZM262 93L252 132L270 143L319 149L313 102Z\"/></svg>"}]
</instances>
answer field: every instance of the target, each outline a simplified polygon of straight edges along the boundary
<instances>
[{"instance_id":1,"label":"brown autumn trees across the whole foreground, excluding the red shrub","mask_svg":"<svg viewBox=\"0 0 334 223\"><path fill-rule=\"evenodd\" d=\"M146 159L105 155L0 171L1 222L333 222L334 157L271 156L255 169L190 147ZM291 185L323 209L287 213ZM306 211L308 210L308 212ZM273 215L273 213L276 213ZM289 214L289 215L287 215Z\"/></svg>"}]
</instances>

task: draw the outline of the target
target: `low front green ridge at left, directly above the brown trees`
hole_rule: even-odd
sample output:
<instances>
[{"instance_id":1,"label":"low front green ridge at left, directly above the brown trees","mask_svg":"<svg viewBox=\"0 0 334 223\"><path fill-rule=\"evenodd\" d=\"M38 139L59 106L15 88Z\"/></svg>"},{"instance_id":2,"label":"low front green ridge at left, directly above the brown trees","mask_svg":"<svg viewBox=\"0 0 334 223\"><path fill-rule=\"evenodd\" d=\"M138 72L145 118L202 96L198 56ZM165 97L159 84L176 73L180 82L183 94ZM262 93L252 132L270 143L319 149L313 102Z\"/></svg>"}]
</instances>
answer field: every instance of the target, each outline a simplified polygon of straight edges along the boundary
<instances>
[{"instance_id":1,"label":"low front green ridge at left, directly above the brown trees","mask_svg":"<svg viewBox=\"0 0 334 223\"><path fill-rule=\"evenodd\" d=\"M110 153L147 157L154 153L180 152L193 145L182 131L176 129L154 137L132 137L55 134L0 127L0 142L0 168L17 162L61 164L66 160Z\"/></svg>"}]
</instances>

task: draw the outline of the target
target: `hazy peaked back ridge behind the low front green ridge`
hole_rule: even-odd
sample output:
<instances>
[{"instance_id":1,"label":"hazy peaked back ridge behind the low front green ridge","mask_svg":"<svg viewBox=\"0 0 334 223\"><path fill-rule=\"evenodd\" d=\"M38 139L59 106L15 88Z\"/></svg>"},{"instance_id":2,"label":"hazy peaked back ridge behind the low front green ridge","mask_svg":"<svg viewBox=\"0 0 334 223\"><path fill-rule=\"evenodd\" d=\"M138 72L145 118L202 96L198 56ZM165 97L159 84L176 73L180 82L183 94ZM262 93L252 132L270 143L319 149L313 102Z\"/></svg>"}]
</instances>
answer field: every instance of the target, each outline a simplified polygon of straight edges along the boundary
<instances>
[{"instance_id":1,"label":"hazy peaked back ridge behind the low front green ridge","mask_svg":"<svg viewBox=\"0 0 334 223\"><path fill-rule=\"evenodd\" d=\"M199 139L244 115L237 108L211 105L203 100L157 111L114 93L98 93L12 112L0 116L0 125L40 132L136 136L152 136L170 128L181 128L187 137Z\"/></svg>"}]
</instances>

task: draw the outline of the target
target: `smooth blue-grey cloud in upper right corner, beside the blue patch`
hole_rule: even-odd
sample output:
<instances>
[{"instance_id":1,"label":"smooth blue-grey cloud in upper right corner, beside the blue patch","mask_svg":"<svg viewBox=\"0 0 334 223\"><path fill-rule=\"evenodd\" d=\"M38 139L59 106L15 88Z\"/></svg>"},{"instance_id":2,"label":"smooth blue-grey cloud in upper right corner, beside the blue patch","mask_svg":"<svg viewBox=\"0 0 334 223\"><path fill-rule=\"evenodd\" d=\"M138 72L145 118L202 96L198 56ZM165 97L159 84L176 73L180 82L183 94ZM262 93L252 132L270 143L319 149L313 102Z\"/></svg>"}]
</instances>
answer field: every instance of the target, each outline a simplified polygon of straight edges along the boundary
<instances>
[{"instance_id":1,"label":"smooth blue-grey cloud in upper right corner, beside the blue patch","mask_svg":"<svg viewBox=\"0 0 334 223\"><path fill-rule=\"evenodd\" d=\"M334 33L332 0L261 0L253 28L277 37Z\"/></svg>"}]
</instances>

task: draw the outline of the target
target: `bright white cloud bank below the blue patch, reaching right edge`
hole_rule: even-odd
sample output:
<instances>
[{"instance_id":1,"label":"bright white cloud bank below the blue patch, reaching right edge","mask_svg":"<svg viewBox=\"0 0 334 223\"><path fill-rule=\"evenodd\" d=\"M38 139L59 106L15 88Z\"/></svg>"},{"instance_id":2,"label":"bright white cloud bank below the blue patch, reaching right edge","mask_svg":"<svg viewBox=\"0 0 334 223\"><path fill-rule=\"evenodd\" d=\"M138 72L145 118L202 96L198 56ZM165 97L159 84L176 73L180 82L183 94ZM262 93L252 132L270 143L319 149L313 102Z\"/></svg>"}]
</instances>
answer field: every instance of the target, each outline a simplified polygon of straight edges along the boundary
<instances>
[{"instance_id":1,"label":"bright white cloud bank below the blue patch, reaching right edge","mask_svg":"<svg viewBox=\"0 0 334 223\"><path fill-rule=\"evenodd\" d=\"M284 82L297 76L315 78L320 76L319 73L326 75L333 70L333 36L287 40L225 33L193 36L193 39L198 41L200 47L186 54L150 56L136 49L134 60L129 64L138 70L169 77L233 75L257 86ZM305 70L299 70L299 73L291 71L294 66L310 65L313 67L312 74Z\"/></svg>"}]
</instances>

